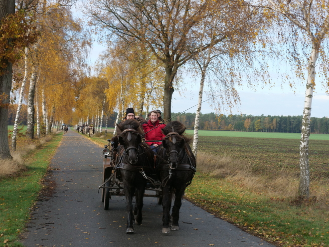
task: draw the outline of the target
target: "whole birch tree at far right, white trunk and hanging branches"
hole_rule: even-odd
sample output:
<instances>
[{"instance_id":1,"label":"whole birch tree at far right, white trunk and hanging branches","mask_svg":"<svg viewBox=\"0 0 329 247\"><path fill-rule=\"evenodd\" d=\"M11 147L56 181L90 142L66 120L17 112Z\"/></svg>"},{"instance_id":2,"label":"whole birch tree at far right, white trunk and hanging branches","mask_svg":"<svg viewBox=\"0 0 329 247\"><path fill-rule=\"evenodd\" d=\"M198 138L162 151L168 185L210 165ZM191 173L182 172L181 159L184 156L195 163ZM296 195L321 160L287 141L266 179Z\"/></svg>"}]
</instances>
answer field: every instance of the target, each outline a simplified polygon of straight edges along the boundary
<instances>
[{"instance_id":1,"label":"whole birch tree at far right, white trunk and hanging branches","mask_svg":"<svg viewBox=\"0 0 329 247\"><path fill-rule=\"evenodd\" d=\"M313 92L316 75L322 75L323 85L328 93L328 37L329 2L324 0L264 0L263 7L277 17L279 35L277 38L290 54L289 61L296 65L296 74L303 77L307 71L303 123L300 141L300 184L299 197L310 196L309 137ZM269 15L270 15L269 13ZM303 56L304 55L304 56ZM318 59L320 61L318 62ZM318 72L316 71L318 68ZM320 87L320 86L319 86Z\"/></svg>"}]
</instances>

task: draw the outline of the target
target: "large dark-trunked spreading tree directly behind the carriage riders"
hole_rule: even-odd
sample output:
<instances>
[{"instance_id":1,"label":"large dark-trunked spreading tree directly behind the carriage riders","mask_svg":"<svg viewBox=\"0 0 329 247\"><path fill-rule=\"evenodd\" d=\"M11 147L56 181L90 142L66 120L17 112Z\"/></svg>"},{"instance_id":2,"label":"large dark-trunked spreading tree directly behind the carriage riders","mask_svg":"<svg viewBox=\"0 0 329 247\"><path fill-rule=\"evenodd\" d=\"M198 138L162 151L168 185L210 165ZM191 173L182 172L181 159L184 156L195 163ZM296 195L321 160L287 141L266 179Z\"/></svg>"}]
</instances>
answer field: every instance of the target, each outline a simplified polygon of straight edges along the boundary
<instances>
[{"instance_id":1,"label":"large dark-trunked spreading tree directly behind the carriage riders","mask_svg":"<svg viewBox=\"0 0 329 247\"><path fill-rule=\"evenodd\" d=\"M89 8L92 24L102 31L108 30L122 40L138 40L162 62L164 79L164 119L171 118L171 98L174 78L178 68L191 59L186 47L195 47L194 28L203 18L214 13L211 7L216 1L205 0L134 0L92 1ZM226 36L216 35L214 43ZM128 42L127 42L128 43ZM209 47L205 43L201 50Z\"/></svg>"}]
</instances>

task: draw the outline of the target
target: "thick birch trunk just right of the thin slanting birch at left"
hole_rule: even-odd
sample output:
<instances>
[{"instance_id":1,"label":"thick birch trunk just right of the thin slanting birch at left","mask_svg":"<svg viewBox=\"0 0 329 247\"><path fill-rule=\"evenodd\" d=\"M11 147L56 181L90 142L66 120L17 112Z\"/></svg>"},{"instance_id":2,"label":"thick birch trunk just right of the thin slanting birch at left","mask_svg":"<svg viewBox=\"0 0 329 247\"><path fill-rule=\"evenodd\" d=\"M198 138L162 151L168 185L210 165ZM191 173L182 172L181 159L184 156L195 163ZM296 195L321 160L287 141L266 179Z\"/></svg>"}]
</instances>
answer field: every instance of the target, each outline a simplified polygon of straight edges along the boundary
<instances>
[{"instance_id":1,"label":"thick birch trunk just right of the thin slanting birch at left","mask_svg":"<svg viewBox=\"0 0 329 247\"><path fill-rule=\"evenodd\" d=\"M27 130L26 136L30 139L34 138L34 92L37 72L35 67L32 67L30 78L30 88L27 96Z\"/></svg>"}]
</instances>

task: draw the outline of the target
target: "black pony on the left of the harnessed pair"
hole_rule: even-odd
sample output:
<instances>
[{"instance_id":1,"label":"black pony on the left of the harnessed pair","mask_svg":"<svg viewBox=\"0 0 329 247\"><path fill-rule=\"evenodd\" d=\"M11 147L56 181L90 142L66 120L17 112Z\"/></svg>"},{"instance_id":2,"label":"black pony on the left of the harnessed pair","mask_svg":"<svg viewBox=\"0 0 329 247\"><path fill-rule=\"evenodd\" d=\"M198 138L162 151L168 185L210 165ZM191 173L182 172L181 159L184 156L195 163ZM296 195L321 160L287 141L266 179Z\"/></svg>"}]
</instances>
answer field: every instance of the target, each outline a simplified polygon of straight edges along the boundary
<instances>
[{"instance_id":1,"label":"black pony on the left of the harnessed pair","mask_svg":"<svg viewBox=\"0 0 329 247\"><path fill-rule=\"evenodd\" d=\"M119 132L118 157L116 169L120 171L127 199L127 234L134 233L133 219L136 225L142 224L143 196L146 187L146 176L152 174L154 156L150 147L142 142L143 130L140 122L128 119L117 125ZM135 194L136 193L136 194ZM133 196L136 204L133 208ZM135 217L134 217L135 215Z\"/></svg>"}]
</instances>

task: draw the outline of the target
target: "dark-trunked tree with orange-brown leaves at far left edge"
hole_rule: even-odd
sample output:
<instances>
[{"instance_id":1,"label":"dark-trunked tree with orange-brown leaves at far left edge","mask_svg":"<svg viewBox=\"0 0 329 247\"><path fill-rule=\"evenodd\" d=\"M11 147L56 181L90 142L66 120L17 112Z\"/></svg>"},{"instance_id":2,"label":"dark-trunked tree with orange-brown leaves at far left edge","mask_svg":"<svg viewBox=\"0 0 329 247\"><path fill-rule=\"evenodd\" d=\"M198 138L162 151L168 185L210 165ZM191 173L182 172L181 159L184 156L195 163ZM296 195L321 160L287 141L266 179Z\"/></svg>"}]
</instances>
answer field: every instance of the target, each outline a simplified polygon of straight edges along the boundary
<instances>
[{"instance_id":1,"label":"dark-trunked tree with orange-brown leaves at far left edge","mask_svg":"<svg viewBox=\"0 0 329 247\"><path fill-rule=\"evenodd\" d=\"M32 3L30 1L29 3ZM34 3L34 2L33 2ZM34 42L30 5L14 0L0 0L0 159L11 158L7 136L7 114L12 81L12 64L23 54L24 47Z\"/></svg>"}]
</instances>

